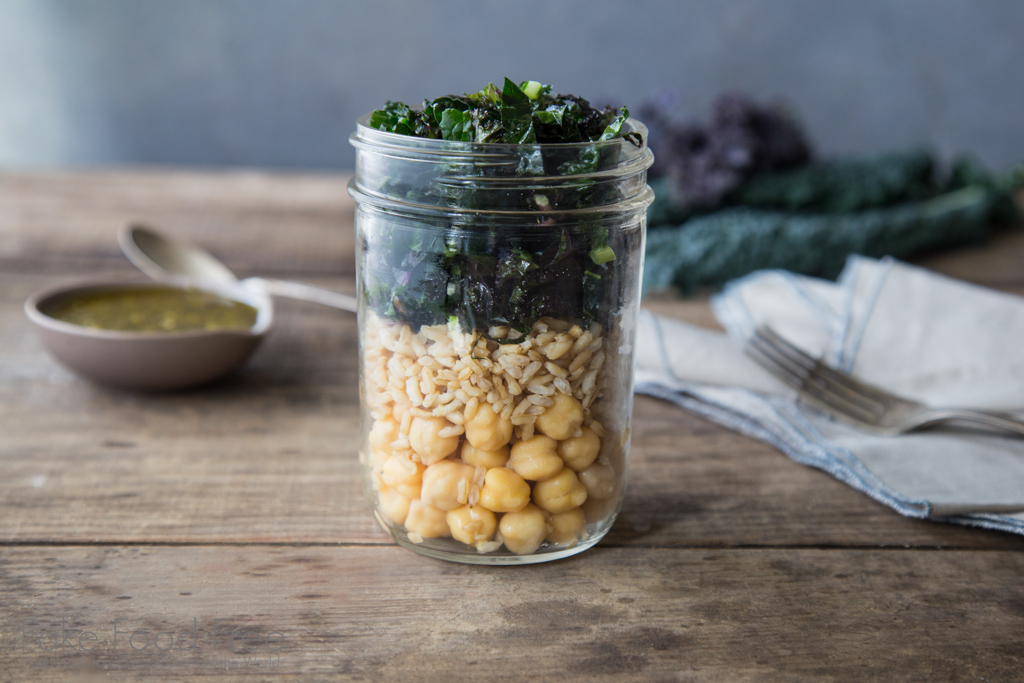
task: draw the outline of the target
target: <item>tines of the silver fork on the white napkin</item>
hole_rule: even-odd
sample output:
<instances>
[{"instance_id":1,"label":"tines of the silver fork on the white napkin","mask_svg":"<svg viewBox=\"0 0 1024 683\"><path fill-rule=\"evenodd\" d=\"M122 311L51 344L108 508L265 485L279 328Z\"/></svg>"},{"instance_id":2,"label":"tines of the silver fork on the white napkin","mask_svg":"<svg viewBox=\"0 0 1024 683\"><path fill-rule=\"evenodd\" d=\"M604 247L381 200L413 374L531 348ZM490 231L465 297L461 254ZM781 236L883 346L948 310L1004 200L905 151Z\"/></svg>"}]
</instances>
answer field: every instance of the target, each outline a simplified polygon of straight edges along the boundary
<instances>
[{"instance_id":1,"label":"tines of the silver fork on the white napkin","mask_svg":"<svg viewBox=\"0 0 1024 683\"><path fill-rule=\"evenodd\" d=\"M883 407L837 387L819 374L820 364L803 351L787 352L786 347L779 347L759 333L748 341L748 349L756 353L772 374L818 402L862 422L878 419Z\"/></svg>"}]
</instances>

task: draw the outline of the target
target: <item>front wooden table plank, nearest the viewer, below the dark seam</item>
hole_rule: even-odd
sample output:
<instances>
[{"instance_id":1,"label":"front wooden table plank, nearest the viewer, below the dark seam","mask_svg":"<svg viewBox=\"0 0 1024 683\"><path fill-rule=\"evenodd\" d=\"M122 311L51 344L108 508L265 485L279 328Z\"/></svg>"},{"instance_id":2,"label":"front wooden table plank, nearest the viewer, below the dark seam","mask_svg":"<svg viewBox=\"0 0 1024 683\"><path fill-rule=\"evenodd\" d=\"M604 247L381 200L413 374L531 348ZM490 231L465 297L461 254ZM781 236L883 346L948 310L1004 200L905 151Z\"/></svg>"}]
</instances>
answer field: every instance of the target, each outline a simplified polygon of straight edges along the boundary
<instances>
[{"instance_id":1,"label":"front wooden table plank, nearest the viewer, below the dark seam","mask_svg":"<svg viewBox=\"0 0 1024 683\"><path fill-rule=\"evenodd\" d=\"M55 547L0 562L9 680L1009 681L1024 668L1014 552L595 549L488 569L398 548ZM48 651L42 632L61 620L65 649ZM178 649L194 620L197 649ZM184 639L159 651L172 634Z\"/></svg>"}]
</instances>

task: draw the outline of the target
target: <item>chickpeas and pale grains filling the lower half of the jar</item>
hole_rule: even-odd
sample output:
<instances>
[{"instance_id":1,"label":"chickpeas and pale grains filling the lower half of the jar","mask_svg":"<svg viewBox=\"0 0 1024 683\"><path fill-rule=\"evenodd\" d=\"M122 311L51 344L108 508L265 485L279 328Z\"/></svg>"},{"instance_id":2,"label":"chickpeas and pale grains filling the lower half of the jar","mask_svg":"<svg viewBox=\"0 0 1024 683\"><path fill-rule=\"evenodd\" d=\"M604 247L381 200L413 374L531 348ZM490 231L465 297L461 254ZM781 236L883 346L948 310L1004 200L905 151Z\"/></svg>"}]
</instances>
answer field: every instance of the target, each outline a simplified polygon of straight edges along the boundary
<instances>
[{"instance_id":1,"label":"chickpeas and pale grains filling the lower half of the jar","mask_svg":"<svg viewBox=\"0 0 1024 683\"><path fill-rule=\"evenodd\" d=\"M492 329L489 337L512 332ZM587 533L581 507L613 496L593 414L599 326L542 318L521 343L371 319L368 437L380 516L410 541L531 554Z\"/></svg>"}]
</instances>

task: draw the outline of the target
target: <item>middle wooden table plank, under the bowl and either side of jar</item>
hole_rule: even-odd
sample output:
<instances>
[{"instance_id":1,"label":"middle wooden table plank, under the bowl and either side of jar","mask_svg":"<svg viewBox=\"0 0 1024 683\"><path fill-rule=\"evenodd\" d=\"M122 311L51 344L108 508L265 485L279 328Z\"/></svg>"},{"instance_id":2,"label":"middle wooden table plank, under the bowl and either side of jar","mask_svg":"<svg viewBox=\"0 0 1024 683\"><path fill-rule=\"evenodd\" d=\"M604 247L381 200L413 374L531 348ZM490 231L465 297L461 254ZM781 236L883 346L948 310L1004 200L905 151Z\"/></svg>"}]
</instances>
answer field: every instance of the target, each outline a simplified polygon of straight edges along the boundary
<instances>
[{"instance_id":1,"label":"middle wooden table plank, under the bowl and either side of jar","mask_svg":"<svg viewBox=\"0 0 1024 683\"><path fill-rule=\"evenodd\" d=\"M133 395L90 385L38 347L20 302L52 281L0 274L0 542L389 543L358 485L350 315L282 301L280 329L237 377ZM1018 537L901 518L646 397L630 476L608 545L1024 549Z\"/></svg>"}]
</instances>

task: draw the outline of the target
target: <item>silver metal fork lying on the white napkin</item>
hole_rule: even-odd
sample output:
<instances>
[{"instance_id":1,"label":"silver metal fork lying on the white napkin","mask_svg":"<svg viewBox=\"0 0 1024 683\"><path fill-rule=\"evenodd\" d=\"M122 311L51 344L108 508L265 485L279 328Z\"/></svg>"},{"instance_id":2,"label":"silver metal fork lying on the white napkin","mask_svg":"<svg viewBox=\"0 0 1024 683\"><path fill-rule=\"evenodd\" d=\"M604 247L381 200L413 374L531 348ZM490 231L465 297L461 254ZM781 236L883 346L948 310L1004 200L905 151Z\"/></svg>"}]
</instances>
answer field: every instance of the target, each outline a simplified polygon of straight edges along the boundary
<instances>
[{"instance_id":1,"label":"silver metal fork lying on the white napkin","mask_svg":"<svg viewBox=\"0 0 1024 683\"><path fill-rule=\"evenodd\" d=\"M808 402L867 431L895 436L955 420L1024 435L1024 421L1010 414L930 408L858 382L808 355L768 327L757 329L744 351Z\"/></svg>"}]
</instances>

